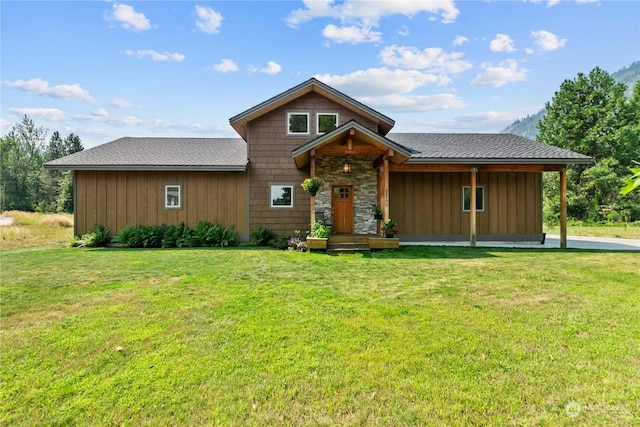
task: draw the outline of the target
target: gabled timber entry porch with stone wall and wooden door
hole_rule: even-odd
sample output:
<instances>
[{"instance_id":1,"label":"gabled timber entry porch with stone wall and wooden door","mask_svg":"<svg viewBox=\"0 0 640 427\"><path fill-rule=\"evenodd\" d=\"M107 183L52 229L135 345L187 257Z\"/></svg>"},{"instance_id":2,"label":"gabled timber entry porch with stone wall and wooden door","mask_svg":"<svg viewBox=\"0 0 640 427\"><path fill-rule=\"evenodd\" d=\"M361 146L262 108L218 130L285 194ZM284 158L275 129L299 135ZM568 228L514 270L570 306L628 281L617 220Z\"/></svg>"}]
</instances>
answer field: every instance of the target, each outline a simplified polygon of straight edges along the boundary
<instances>
[{"instance_id":1,"label":"gabled timber entry porch with stone wall and wooden door","mask_svg":"<svg viewBox=\"0 0 640 427\"><path fill-rule=\"evenodd\" d=\"M330 225L334 235L376 237L390 218L389 166L410 157L406 148L350 121L298 147L293 158L299 169L323 185L310 199L310 222ZM374 217L374 207L382 211Z\"/></svg>"}]
</instances>

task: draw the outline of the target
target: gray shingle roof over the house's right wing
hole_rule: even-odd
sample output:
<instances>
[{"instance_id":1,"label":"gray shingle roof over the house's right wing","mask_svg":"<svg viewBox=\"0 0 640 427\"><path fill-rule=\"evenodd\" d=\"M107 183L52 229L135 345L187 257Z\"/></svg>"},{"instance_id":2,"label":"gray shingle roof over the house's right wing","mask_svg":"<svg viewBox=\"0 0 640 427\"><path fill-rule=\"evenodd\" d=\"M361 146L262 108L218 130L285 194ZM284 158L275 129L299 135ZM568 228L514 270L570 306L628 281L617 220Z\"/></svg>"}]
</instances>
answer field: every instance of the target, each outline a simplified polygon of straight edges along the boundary
<instances>
[{"instance_id":1,"label":"gray shingle roof over the house's right wing","mask_svg":"<svg viewBox=\"0 0 640 427\"><path fill-rule=\"evenodd\" d=\"M591 163L589 156L521 136L499 133L390 133L411 150L407 163Z\"/></svg>"}]
</instances>

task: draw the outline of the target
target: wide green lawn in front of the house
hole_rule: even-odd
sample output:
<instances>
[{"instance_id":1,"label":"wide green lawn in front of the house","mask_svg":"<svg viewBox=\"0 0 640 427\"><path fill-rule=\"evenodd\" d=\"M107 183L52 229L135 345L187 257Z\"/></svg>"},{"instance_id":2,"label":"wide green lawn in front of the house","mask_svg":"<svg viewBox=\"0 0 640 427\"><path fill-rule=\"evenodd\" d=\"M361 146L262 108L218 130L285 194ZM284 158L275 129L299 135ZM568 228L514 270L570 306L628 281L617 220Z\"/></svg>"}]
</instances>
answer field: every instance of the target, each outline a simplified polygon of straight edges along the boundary
<instances>
[{"instance_id":1,"label":"wide green lawn in front of the house","mask_svg":"<svg viewBox=\"0 0 640 427\"><path fill-rule=\"evenodd\" d=\"M640 423L637 253L1 255L2 425Z\"/></svg>"}]
</instances>

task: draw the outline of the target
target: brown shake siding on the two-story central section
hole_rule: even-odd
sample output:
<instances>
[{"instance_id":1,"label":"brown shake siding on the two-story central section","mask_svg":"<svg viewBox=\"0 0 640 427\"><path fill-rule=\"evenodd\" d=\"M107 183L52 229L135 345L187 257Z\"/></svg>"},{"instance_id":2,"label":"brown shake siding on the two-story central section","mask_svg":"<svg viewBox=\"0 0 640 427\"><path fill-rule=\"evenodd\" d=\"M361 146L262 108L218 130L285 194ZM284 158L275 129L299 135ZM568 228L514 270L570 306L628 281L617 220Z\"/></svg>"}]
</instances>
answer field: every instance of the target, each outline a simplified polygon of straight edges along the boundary
<instances>
[{"instance_id":1,"label":"brown shake siding on the two-story central section","mask_svg":"<svg viewBox=\"0 0 640 427\"><path fill-rule=\"evenodd\" d=\"M287 113L308 112L310 133L287 135ZM309 176L309 167L298 170L291 152L315 139L316 114L337 112L339 124L355 119L375 129L375 123L316 93L306 94L291 103L271 111L248 124L249 150L249 228L267 227L282 235L294 230L310 229L309 193L300 184ZM289 183L294 189L293 208L270 207L270 185Z\"/></svg>"}]
</instances>

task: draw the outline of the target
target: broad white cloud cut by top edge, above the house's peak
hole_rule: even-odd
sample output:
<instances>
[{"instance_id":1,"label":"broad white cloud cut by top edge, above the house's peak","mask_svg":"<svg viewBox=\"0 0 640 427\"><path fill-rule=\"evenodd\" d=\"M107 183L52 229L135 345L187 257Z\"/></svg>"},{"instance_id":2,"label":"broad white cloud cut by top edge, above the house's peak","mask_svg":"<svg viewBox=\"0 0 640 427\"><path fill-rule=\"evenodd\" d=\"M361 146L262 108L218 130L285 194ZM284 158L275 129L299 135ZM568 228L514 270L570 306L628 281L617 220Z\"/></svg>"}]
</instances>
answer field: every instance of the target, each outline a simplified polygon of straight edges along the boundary
<instances>
[{"instance_id":1,"label":"broad white cloud cut by top edge, above the house's peak","mask_svg":"<svg viewBox=\"0 0 640 427\"><path fill-rule=\"evenodd\" d=\"M374 31L380 19L392 15L412 17L422 12L440 16L442 23L456 20L460 11L453 0L394 0L360 1L346 0L303 0L304 8L292 11L286 18L288 26L297 28L316 18L332 18L340 25L327 25L323 35L338 43L375 42L382 39L382 33ZM407 33L401 30L400 34Z\"/></svg>"}]
</instances>

